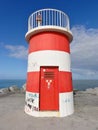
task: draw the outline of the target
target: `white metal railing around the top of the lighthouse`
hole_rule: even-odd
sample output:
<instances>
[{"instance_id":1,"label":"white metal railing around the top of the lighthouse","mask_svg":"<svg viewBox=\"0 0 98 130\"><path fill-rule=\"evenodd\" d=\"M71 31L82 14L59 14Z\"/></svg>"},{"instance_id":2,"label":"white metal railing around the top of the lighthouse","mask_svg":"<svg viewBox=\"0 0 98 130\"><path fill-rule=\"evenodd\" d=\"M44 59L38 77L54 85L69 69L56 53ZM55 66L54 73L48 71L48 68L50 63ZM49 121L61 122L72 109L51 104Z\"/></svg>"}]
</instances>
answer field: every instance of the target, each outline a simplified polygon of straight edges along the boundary
<instances>
[{"instance_id":1,"label":"white metal railing around the top of the lighthouse","mask_svg":"<svg viewBox=\"0 0 98 130\"><path fill-rule=\"evenodd\" d=\"M31 14L28 19L28 31L39 26L57 26L70 30L68 16L56 9L42 9Z\"/></svg>"}]
</instances>

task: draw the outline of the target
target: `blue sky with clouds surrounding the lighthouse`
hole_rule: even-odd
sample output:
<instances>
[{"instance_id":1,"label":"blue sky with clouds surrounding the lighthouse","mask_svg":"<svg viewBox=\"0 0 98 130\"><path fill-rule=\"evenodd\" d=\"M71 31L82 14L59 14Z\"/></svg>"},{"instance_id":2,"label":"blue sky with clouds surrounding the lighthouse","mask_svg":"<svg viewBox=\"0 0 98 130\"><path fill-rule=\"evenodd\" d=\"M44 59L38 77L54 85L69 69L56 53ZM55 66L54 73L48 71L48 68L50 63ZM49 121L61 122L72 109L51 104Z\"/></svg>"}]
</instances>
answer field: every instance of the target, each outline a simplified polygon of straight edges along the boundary
<instances>
[{"instance_id":1,"label":"blue sky with clouds surrounding the lighthouse","mask_svg":"<svg viewBox=\"0 0 98 130\"><path fill-rule=\"evenodd\" d=\"M73 79L98 79L98 0L0 0L0 79L26 79L27 21L42 8L70 18Z\"/></svg>"}]
</instances>

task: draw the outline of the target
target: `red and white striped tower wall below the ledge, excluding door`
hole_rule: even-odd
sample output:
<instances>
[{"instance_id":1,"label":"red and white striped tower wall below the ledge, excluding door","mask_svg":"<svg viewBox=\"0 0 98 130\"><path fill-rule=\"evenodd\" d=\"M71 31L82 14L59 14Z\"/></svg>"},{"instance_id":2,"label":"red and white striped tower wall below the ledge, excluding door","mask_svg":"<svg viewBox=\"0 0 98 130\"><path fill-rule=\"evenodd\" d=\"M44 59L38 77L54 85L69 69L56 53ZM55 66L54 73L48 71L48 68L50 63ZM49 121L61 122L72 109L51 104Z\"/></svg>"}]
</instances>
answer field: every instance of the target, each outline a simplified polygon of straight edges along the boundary
<instances>
[{"instance_id":1,"label":"red and white striped tower wall below the ledge, excluding door","mask_svg":"<svg viewBox=\"0 0 98 130\"><path fill-rule=\"evenodd\" d=\"M59 110L40 111L40 67L57 66ZM32 116L64 117L72 114L73 87L68 37L57 32L40 32L29 40L25 112Z\"/></svg>"}]
</instances>

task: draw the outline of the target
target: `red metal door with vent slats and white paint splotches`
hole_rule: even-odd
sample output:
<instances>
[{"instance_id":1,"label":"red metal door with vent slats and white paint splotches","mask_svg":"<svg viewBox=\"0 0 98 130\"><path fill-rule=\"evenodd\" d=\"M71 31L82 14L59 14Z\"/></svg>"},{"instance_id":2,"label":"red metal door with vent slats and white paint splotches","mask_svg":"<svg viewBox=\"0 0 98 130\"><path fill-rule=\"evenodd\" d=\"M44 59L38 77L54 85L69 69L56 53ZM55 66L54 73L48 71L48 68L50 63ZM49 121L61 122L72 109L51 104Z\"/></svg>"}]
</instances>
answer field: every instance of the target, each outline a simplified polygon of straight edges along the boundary
<instances>
[{"instance_id":1,"label":"red metal door with vent slats and white paint splotches","mask_svg":"<svg viewBox=\"0 0 98 130\"><path fill-rule=\"evenodd\" d=\"M40 110L59 110L58 67L41 67Z\"/></svg>"}]
</instances>

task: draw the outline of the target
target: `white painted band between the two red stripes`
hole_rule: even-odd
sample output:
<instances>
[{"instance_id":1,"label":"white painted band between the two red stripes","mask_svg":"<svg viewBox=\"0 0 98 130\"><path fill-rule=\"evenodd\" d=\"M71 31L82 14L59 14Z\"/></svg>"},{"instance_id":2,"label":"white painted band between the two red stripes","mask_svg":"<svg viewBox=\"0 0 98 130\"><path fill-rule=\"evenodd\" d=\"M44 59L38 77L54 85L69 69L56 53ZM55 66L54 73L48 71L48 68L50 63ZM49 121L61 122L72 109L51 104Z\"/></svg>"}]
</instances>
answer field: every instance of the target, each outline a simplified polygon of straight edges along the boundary
<instances>
[{"instance_id":1,"label":"white painted band between the two red stripes","mask_svg":"<svg viewBox=\"0 0 98 130\"><path fill-rule=\"evenodd\" d=\"M28 72L40 71L40 66L59 66L60 71L70 72L70 54L64 51L37 51L28 56Z\"/></svg>"}]
</instances>

